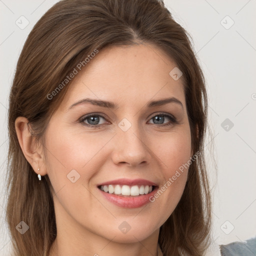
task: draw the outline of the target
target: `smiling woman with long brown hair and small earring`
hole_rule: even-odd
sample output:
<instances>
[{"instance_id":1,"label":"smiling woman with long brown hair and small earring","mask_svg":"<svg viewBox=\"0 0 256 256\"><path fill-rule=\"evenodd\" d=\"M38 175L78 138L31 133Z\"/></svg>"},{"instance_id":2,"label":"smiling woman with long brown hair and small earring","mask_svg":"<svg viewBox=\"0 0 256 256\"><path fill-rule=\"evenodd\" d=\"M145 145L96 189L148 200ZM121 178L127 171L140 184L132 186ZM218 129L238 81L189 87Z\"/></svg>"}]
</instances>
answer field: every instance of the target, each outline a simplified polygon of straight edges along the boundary
<instances>
[{"instance_id":1,"label":"smiling woman with long brown hair and small earring","mask_svg":"<svg viewBox=\"0 0 256 256\"><path fill-rule=\"evenodd\" d=\"M13 255L203 255L207 95L157 0L62 0L35 24L9 98Z\"/></svg>"}]
</instances>

